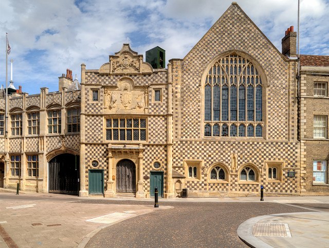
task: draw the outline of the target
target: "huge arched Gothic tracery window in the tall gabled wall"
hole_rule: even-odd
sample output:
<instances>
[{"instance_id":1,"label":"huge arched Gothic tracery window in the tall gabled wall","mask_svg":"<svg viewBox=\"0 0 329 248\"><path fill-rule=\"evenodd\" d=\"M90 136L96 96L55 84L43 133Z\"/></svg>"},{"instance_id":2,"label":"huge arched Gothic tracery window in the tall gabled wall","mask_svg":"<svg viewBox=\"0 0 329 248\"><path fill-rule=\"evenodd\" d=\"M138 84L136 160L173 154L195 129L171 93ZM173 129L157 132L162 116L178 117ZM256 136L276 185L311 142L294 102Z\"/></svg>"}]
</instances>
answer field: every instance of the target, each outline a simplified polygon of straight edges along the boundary
<instances>
[{"instance_id":1,"label":"huge arched Gothic tracery window in the tall gabled wall","mask_svg":"<svg viewBox=\"0 0 329 248\"><path fill-rule=\"evenodd\" d=\"M263 85L258 70L241 55L227 55L205 81L205 136L262 137Z\"/></svg>"}]
</instances>

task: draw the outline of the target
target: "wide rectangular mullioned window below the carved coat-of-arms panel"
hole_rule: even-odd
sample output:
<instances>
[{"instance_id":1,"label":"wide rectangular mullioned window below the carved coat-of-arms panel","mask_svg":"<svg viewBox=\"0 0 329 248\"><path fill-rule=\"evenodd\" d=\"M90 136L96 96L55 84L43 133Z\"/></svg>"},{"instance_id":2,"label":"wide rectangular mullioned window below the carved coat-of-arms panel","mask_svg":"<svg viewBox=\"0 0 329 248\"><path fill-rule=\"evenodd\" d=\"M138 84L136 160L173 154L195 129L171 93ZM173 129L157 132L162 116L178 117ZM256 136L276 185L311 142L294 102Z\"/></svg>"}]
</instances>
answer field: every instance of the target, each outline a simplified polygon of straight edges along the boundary
<instances>
[{"instance_id":1,"label":"wide rectangular mullioned window below the carved coat-of-arms panel","mask_svg":"<svg viewBox=\"0 0 329 248\"><path fill-rule=\"evenodd\" d=\"M146 119L109 118L106 122L106 140L146 140Z\"/></svg>"}]
</instances>

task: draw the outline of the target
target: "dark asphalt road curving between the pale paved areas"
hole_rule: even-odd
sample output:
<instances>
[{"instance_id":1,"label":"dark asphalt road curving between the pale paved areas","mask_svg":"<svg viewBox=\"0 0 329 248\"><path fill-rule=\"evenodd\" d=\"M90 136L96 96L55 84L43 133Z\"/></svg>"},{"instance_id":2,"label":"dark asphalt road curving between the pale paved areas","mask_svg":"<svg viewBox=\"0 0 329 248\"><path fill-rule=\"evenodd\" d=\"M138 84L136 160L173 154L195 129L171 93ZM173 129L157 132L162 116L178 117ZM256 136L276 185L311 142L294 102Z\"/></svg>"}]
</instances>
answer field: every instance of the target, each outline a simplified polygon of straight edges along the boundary
<instances>
[{"instance_id":1,"label":"dark asphalt road curving between the pale paved areas","mask_svg":"<svg viewBox=\"0 0 329 248\"><path fill-rule=\"evenodd\" d=\"M82 202L93 203L93 200ZM119 201L104 203L121 204ZM303 211L273 202L161 204L174 206L174 209L152 212L108 226L86 247L248 247L236 234L237 227L245 220L260 215Z\"/></svg>"}]
</instances>

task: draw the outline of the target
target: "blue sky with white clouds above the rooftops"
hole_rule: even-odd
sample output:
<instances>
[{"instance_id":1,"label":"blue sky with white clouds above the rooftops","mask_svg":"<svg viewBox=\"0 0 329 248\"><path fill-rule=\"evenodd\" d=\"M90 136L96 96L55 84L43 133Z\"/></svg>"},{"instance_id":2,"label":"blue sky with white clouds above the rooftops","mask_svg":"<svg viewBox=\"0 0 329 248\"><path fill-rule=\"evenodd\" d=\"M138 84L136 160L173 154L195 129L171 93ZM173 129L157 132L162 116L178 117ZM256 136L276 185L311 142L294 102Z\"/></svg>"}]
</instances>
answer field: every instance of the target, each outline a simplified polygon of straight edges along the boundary
<instances>
[{"instance_id":1,"label":"blue sky with white clouds above the rooftops","mask_svg":"<svg viewBox=\"0 0 329 248\"><path fill-rule=\"evenodd\" d=\"M15 87L38 94L42 87L58 91L58 77L67 68L80 81L82 63L99 69L123 43L139 54L159 46L167 60L183 58L231 2L1 0L0 84L6 84L6 32ZM285 30L295 26L297 31L298 0L236 2L279 51ZM328 0L301 0L300 11L300 53L329 55Z\"/></svg>"}]
</instances>

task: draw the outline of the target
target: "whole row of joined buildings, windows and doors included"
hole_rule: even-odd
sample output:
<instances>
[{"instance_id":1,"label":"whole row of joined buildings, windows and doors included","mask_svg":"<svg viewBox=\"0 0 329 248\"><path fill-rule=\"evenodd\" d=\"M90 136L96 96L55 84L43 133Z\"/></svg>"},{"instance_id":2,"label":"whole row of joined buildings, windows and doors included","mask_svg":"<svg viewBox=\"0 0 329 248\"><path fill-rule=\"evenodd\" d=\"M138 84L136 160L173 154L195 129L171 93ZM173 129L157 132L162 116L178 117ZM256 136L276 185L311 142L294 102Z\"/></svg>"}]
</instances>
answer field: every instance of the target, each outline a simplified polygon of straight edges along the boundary
<instances>
[{"instance_id":1,"label":"whole row of joined buildings, windows and doors included","mask_svg":"<svg viewBox=\"0 0 329 248\"><path fill-rule=\"evenodd\" d=\"M154 188L168 198L182 189L249 196L260 185L268 195L329 194L328 61L301 56L299 86L293 28L281 53L236 3L168 69L124 44L99 69L81 65L81 88L68 70L58 92L13 93L6 136L0 99L0 187L138 198Z\"/></svg>"}]
</instances>

